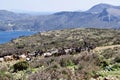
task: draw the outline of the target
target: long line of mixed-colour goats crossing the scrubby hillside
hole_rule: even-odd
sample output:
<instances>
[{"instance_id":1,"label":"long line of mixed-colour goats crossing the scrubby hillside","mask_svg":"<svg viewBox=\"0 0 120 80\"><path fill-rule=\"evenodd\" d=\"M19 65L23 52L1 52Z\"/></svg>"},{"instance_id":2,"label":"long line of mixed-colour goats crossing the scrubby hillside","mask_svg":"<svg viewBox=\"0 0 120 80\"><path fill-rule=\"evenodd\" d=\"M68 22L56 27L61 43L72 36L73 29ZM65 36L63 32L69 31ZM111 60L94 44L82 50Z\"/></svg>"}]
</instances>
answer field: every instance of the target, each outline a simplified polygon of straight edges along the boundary
<instances>
[{"instance_id":1,"label":"long line of mixed-colour goats crossing the scrubby hillside","mask_svg":"<svg viewBox=\"0 0 120 80\"><path fill-rule=\"evenodd\" d=\"M21 55L6 55L0 57L0 62L3 61L12 61L12 60L26 60L26 61L31 61L33 57L37 56L43 56L43 57L50 57L50 56L61 56L61 55L66 55L66 54L74 54L74 53L80 53L81 51L90 51L94 49L94 45L84 45L84 46L79 46L79 47L71 47L71 48L61 48L61 49L50 49L46 52L42 50L37 50L34 51L33 53L23 53Z\"/></svg>"}]
</instances>

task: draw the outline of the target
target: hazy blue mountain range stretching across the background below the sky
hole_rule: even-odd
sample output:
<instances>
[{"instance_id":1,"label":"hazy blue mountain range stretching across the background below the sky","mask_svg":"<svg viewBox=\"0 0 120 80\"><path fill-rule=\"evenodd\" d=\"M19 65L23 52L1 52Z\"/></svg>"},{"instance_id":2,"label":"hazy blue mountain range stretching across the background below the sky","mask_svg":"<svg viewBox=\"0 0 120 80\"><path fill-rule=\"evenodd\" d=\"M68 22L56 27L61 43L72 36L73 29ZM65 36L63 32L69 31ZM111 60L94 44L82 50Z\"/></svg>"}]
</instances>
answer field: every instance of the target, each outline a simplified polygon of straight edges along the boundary
<instances>
[{"instance_id":1,"label":"hazy blue mountain range stretching across the background below the sky","mask_svg":"<svg viewBox=\"0 0 120 80\"><path fill-rule=\"evenodd\" d=\"M78 27L120 29L120 6L98 4L84 12L64 11L40 16L0 11L2 31L49 31Z\"/></svg>"}]
</instances>

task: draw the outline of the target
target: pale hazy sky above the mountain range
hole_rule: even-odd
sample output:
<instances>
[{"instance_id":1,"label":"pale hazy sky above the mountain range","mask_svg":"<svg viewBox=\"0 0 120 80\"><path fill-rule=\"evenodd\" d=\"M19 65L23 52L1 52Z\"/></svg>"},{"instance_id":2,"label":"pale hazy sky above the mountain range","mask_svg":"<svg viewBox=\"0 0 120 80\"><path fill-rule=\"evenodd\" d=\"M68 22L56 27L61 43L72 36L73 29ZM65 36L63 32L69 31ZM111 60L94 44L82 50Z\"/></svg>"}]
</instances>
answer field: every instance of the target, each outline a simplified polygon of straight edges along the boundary
<instances>
[{"instance_id":1,"label":"pale hazy sky above the mountain range","mask_svg":"<svg viewBox=\"0 0 120 80\"><path fill-rule=\"evenodd\" d=\"M37 12L88 10L95 4L120 6L120 0L0 0L0 10L26 10Z\"/></svg>"}]
</instances>

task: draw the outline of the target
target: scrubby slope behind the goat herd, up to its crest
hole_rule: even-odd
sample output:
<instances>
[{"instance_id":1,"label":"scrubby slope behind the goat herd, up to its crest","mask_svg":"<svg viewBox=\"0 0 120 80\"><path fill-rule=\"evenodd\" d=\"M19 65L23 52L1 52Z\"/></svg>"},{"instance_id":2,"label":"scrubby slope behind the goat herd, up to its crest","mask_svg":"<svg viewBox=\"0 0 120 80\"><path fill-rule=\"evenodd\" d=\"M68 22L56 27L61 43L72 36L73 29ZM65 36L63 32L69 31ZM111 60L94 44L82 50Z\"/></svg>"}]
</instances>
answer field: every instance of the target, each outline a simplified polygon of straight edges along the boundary
<instances>
[{"instance_id":1,"label":"scrubby slope behind the goat herd, up to its crest","mask_svg":"<svg viewBox=\"0 0 120 80\"><path fill-rule=\"evenodd\" d=\"M114 29L74 28L37 33L29 37L20 37L0 45L1 54L18 53L18 51L48 50L83 45L84 41L94 46L120 44L120 31ZM18 50L18 51L17 51Z\"/></svg>"}]
</instances>

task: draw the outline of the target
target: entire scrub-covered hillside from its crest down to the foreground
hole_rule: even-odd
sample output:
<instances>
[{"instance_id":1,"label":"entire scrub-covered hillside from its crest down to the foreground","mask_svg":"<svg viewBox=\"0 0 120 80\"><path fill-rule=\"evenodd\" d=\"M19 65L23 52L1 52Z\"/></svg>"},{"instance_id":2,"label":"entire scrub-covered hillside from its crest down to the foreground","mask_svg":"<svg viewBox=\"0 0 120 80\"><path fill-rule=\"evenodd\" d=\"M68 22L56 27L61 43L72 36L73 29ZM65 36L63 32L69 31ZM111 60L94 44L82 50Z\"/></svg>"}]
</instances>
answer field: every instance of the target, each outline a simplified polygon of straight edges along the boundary
<instances>
[{"instance_id":1,"label":"entire scrub-covered hillside from its crest down to the foreground","mask_svg":"<svg viewBox=\"0 0 120 80\"><path fill-rule=\"evenodd\" d=\"M25 59L24 62L14 58L0 61L0 79L120 79L120 30L55 30L22 36L0 45L0 60L8 55L21 54L31 56L31 60Z\"/></svg>"}]
</instances>

